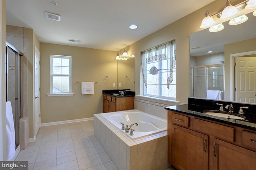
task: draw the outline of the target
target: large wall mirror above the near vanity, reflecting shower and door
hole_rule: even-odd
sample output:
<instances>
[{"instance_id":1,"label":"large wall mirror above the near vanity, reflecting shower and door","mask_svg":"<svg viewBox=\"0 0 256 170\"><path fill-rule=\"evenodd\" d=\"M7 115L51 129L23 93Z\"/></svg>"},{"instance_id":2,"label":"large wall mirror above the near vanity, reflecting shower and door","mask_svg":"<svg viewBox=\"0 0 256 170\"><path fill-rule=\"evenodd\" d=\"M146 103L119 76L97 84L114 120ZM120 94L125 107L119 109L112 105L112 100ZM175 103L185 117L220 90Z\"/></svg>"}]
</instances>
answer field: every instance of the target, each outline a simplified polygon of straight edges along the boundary
<instances>
[{"instance_id":1,"label":"large wall mirror above the near vanity, reflecting shower and door","mask_svg":"<svg viewBox=\"0 0 256 170\"><path fill-rule=\"evenodd\" d=\"M190 35L191 97L256 103L256 16L246 16L222 31Z\"/></svg>"}]
</instances>

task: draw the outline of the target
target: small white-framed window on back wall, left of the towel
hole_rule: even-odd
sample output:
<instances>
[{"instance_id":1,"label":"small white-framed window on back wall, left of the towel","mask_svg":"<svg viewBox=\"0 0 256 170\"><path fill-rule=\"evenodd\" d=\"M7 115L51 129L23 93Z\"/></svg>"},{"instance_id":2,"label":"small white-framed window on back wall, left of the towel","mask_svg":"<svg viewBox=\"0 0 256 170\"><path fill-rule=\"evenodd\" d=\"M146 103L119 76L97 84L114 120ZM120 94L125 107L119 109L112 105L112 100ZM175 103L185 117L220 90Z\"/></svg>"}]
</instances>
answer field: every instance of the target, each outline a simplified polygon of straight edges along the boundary
<instances>
[{"instance_id":1,"label":"small white-framed window on back wall, left of the towel","mask_svg":"<svg viewBox=\"0 0 256 170\"><path fill-rule=\"evenodd\" d=\"M71 57L51 55L51 94L71 93Z\"/></svg>"}]
</instances>

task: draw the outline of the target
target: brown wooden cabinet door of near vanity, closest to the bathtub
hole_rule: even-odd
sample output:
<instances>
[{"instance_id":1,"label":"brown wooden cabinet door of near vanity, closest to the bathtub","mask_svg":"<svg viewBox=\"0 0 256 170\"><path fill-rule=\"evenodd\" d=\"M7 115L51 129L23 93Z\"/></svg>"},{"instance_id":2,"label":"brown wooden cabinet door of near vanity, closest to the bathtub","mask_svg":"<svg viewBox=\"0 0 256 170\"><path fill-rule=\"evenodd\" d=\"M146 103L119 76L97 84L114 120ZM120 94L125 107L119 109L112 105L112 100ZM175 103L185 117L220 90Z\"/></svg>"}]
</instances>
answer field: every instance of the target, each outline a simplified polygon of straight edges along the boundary
<instances>
[{"instance_id":1,"label":"brown wooden cabinet door of near vanity, closest to the bathtub","mask_svg":"<svg viewBox=\"0 0 256 170\"><path fill-rule=\"evenodd\" d=\"M173 125L171 157L178 170L207 170L208 136Z\"/></svg>"}]
</instances>

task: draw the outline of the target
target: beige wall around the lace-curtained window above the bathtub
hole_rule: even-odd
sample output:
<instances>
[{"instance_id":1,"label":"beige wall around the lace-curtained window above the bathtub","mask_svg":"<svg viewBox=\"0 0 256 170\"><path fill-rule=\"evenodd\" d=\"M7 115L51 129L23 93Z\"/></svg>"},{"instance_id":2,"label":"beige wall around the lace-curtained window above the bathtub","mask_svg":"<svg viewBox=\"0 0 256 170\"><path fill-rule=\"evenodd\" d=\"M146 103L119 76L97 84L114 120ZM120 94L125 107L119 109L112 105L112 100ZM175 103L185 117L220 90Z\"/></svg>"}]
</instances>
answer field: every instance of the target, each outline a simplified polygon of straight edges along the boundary
<instances>
[{"instance_id":1,"label":"beige wall around the lace-curtained window above the bathtub","mask_svg":"<svg viewBox=\"0 0 256 170\"><path fill-rule=\"evenodd\" d=\"M236 2L238 1L232 1L232 3ZM211 14L215 14L221 8L224 8L224 5L225 2L223 0L215 0L188 16L140 39L126 49L134 51L136 56L140 56L141 51L176 39L176 100L181 103L187 103L188 97L190 96L189 35L201 30L200 25L206 10ZM136 57L135 59L135 91L136 94L143 95L140 57Z\"/></svg>"}]
</instances>

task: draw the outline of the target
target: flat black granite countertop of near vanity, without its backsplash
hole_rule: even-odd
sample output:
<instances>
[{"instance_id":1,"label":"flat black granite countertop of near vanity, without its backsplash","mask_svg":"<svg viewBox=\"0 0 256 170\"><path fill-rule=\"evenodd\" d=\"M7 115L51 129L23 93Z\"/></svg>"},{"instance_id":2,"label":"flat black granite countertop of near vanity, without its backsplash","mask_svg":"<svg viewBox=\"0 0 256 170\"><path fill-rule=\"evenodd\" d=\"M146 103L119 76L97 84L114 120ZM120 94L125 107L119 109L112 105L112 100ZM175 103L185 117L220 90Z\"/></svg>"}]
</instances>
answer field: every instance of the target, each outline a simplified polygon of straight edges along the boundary
<instances>
[{"instance_id":1,"label":"flat black granite countertop of near vanity, without its backsplash","mask_svg":"<svg viewBox=\"0 0 256 170\"><path fill-rule=\"evenodd\" d=\"M165 107L166 110L177 111L180 113L184 113L186 115L192 115L194 117L200 117L203 119L208 119L211 121L216 121L219 123L225 123L228 125L233 125L237 127L242 127L244 129L250 129L256 131L256 114L253 113L245 113L244 116L246 117L243 119L228 119L222 117L216 117L212 115L207 115L203 113L204 110L213 110L210 107L192 105L192 104L184 104L178 106L168 106ZM218 110L218 109L214 109Z\"/></svg>"}]
</instances>

